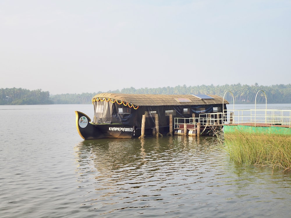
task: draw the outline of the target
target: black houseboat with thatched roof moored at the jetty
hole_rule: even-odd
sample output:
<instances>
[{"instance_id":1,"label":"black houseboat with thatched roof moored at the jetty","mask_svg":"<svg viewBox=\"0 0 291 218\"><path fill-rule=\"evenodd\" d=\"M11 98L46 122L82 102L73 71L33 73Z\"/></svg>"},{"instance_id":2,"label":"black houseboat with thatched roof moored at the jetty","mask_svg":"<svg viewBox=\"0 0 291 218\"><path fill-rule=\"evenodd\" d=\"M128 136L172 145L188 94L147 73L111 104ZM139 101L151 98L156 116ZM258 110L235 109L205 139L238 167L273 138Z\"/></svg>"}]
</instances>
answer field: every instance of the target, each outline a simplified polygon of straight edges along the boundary
<instances>
[{"instance_id":1,"label":"black houseboat with thatched roof moored at the jetty","mask_svg":"<svg viewBox=\"0 0 291 218\"><path fill-rule=\"evenodd\" d=\"M201 121L202 126L205 122L205 128L201 128L205 132L209 126L207 117L223 125L219 114L226 110L228 101L217 95L100 93L92 103L93 121L75 111L77 131L84 140L173 134L176 119L194 125Z\"/></svg>"}]
</instances>

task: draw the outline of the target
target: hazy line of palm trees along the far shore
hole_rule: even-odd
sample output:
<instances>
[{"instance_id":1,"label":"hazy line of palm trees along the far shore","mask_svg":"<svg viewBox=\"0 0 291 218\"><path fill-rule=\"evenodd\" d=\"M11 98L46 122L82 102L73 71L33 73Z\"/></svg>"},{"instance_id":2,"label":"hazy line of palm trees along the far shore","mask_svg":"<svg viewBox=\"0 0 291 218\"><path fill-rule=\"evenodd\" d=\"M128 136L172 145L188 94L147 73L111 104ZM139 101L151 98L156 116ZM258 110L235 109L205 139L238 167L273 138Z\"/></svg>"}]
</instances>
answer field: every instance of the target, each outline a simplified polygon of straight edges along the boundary
<instances>
[{"instance_id":1,"label":"hazy line of palm trees along the far shore","mask_svg":"<svg viewBox=\"0 0 291 218\"><path fill-rule=\"evenodd\" d=\"M291 84L288 85L271 85L262 86L255 83L254 85L197 85L197 86L175 86L175 87L159 87L159 88L141 88L134 87L124 88L122 90L109 90L112 93L124 94L209 94L219 95L225 94L225 99L230 103L255 103L255 96L259 90L263 90L267 96L267 103L291 103ZM230 91L233 94L230 94ZM259 92L256 102L265 103L264 92ZM82 94L56 94L49 95L41 89L27 90L22 88L1 88L0 104L89 104L94 95L102 93L82 93Z\"/></svg>"}]
</instances>

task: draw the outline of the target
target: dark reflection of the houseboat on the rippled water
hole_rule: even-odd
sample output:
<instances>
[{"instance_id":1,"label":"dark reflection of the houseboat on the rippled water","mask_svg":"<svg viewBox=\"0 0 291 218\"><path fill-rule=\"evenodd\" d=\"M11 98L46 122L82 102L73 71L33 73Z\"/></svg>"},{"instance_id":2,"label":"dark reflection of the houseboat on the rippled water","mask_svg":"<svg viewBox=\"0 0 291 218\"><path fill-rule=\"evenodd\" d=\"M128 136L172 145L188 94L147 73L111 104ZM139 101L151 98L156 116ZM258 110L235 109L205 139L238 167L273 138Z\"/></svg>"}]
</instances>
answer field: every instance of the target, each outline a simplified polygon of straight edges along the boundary
<instances>
[{"instance_id":1,"label":"dark reflection of the houseboat on the rippled water","mask_svg":"<svg viewBox=\"0 0 291 218\"><path fill-rule=\"evenodd\" d=\"M79 165L94 165L99 172L140 169L148 162L174 161L185 153L207 155L213 152L212 137L161 137L147 139L84 140L76 147Z\"/></svg>"}]
</instances>

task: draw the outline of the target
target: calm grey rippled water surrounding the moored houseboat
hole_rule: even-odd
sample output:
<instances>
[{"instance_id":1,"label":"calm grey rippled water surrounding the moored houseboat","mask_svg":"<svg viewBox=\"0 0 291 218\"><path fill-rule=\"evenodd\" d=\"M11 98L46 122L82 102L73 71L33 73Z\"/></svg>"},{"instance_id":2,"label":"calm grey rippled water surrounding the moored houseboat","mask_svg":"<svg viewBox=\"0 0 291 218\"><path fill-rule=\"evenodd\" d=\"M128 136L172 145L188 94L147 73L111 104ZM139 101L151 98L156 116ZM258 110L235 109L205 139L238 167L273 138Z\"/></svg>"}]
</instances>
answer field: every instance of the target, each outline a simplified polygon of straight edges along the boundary
<instances>
[{"instance_id":1,"label":"calm grey rippled water surrounding the moored houseboat","mask_svg":"<svg viewBox=\"0 0 291 218\"><path fill-rule=\"evenodd\" d=\"M290 217L290 172L236 165L211 137L84 141L74 110L92 118L0 106L0 217Z\"/></svg>"}]
</instances>

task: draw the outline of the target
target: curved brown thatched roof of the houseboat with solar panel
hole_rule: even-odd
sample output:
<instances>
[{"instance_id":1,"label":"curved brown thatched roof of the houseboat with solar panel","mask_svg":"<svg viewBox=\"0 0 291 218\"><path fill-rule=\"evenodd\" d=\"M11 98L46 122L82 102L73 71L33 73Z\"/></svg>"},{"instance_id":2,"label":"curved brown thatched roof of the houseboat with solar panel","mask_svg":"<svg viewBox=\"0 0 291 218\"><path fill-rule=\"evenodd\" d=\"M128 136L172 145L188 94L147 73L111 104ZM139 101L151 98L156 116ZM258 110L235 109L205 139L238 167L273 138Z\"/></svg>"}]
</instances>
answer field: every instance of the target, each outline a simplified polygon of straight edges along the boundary
<instances>
[{"instance_id":1,"label":"curved brown thatched roof of the houseboat with solar panel","mask_svg":"<svg viewBox=\"0 0 291 218\"><path fill-rule=\"evenodd\" d=\"M223 98L217 95L197 96L200 98L195 95L100 93L95 95L92 100L94 101L96 98L116 99L136 106L229 104L228 101L225 99L223 101Z\"/></svg>"}]
</instances>

